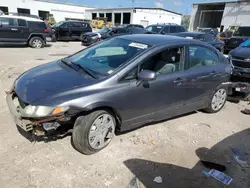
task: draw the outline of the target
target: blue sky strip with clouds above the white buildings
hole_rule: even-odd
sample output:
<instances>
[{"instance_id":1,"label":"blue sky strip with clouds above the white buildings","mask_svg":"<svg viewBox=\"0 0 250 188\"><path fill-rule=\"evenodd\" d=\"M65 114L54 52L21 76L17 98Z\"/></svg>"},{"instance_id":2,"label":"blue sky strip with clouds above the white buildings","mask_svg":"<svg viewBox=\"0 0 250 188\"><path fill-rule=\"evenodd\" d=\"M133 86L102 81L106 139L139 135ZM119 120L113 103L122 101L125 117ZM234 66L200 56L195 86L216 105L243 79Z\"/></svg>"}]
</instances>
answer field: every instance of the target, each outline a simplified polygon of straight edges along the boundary
<instances>
[{"instance_id":1,"label":"blue sky strip with clouds above the white buildings","mask_svg":"<svg viewBox=\"0 0 250 188\"><path fill-rule=\"evenodd\" d=\"M192 11L192 4L197 2L212 2L223 0L56 0L57 2L68 2L73 4L87 5L98 8L128 8L132 7L160 7L181 14L190 14ZM230 1L230 0L224 0Z\"/></svg>"}]
</instances>

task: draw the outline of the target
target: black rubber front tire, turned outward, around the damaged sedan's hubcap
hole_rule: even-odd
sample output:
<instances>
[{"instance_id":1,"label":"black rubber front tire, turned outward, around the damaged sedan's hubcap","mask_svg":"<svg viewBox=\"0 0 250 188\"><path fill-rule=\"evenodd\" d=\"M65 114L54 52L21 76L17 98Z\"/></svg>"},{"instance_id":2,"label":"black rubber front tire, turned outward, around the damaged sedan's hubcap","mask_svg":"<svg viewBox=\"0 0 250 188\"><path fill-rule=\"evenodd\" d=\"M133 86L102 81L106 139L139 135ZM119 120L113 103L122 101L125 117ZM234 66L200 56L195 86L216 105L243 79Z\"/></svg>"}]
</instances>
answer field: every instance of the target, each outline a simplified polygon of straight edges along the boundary
<instances>
[{"instance_id":1,"label":"black rubber front tire, turned outward, around the damaged sedan's hubcap","mask_svg":"<svg viewBox=\"0 0 250 188\"><path fill-rule=\"evenodd\" d=\"M89 133L93 122L99 116L103 114L108 114L113 118L114 123L116 122L112 112L108 110L97 110L93 111L84 116L79 116L74 124L74 129L72 133L73 147L85 155L91 155L97 153L98 151L104 149L105 147L94 149L89 143ZM110 142L109 142L110 143Z\"/></svg>"}]
</instances>

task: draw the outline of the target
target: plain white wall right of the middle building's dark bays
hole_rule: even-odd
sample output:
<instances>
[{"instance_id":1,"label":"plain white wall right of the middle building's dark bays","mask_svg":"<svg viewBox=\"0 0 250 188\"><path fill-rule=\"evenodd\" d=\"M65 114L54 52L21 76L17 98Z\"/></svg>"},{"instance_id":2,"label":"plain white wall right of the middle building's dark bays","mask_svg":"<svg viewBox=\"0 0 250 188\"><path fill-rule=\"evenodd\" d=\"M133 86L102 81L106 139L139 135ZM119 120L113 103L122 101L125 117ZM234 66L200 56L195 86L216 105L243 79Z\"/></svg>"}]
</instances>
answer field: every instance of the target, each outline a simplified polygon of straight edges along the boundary
<instances>
[{"instance_id":1,"label":"plain white wall right of the middle building's dark bays","mask_svg":"<svg viewBox=\"0 0 250 188\"><path fill-rule=\"evenodd\" d=\"M156 23L181 24L181 15L163 10L136 9L133 13L133 24L142 24L144 27Z\"/></svg>"}]
</instances>

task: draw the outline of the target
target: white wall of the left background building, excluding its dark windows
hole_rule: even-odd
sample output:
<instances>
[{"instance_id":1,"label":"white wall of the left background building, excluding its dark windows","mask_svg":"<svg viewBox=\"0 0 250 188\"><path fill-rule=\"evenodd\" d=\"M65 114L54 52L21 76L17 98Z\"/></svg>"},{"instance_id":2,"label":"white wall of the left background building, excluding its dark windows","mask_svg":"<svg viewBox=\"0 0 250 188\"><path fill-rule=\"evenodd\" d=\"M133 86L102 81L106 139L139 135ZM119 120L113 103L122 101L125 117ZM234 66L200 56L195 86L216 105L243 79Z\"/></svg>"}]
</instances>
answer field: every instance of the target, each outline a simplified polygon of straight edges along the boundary
<instances>
[{"instance_id":1,"label":"white wall of the left background building, excluding its dark windows","mask_svg":"<svg viewBox=\"0 0 250 188\"><path fill-rule=\"evenodd\" d=\"M38 10L49 11L57 22L65 18L86 19L85 10L91 9L83 6L50 3L35 0L5 0L0 1L0 6L8 7L9 12L17 12L17 8L30 9L30 14L38 16Z\"/></svg>"}]
</instances>

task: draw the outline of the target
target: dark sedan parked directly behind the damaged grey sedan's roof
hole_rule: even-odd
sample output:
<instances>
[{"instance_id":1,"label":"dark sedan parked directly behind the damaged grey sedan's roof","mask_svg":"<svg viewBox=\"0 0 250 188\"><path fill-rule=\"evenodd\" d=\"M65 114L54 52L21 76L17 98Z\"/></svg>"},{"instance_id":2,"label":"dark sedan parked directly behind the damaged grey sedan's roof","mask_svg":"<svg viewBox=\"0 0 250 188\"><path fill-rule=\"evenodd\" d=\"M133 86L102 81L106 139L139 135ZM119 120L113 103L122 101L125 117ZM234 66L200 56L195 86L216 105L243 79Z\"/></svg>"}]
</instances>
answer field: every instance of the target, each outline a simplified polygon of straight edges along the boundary
<instances>
[{"instance_id":1,"label":"dark sedan parked directly behind the damaged grey sedan's roof","mask_svg":"<svg viewBox=\"0 0 250 188\"><path fill-rule=\"evenodd\" d=\"M151 34L152 32L134 26L119 26L119 27L107 27L98 32L89 32L82 35L82 45L89 46L98 41L105 40L111 37L128 34Z\"/></svg>"}]
</instances>

